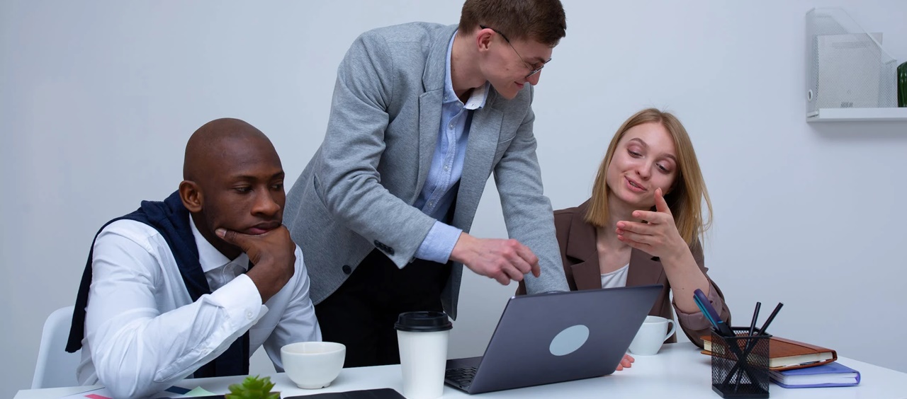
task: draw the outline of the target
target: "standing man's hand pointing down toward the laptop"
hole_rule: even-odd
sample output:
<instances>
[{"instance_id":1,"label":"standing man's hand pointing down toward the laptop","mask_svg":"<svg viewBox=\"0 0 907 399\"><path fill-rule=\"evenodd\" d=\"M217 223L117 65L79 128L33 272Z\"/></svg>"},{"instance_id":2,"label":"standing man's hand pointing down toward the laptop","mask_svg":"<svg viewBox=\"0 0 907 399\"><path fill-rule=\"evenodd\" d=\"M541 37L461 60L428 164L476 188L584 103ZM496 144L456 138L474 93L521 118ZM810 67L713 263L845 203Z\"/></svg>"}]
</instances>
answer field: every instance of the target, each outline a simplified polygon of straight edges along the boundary
<instances>
[{"instance_id":1,"label":"standing man's hand pointing down toward the laptop","mask_svg":"<svg viewBox=\"0 0 907 399\"><path fill-rule=\"evenodd\" d=\"M461 233L450 258L502 285L510 284L511 280L521 281L530 271L535 277L541 274L539 258L529 247L512 239L475 238Z\"/></svg>"}]
</instances>

